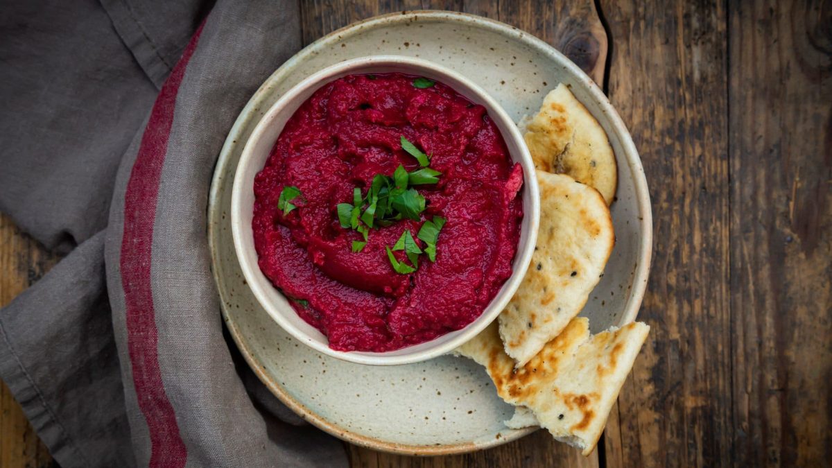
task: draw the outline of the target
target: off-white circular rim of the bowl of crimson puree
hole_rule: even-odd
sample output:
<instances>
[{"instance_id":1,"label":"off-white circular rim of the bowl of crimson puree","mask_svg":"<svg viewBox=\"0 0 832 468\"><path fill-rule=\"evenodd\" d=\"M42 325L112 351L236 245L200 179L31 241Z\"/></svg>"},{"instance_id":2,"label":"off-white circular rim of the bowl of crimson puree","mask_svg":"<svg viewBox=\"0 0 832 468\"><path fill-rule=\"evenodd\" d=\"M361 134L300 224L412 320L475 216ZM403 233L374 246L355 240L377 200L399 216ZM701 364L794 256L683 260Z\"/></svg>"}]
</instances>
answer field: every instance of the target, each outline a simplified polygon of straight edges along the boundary
<instances>
[{"instance_id":1,"label":"off-white circular rim of the bowl of crimson puree","mask_svg":"<svg viewBox=\"0 0 832 468\"><path fill-rule=\"evenodd\" d=\"M476 95L478 102L483 104L483 106L488 109L488 116L491 117L495 123L499 125L501 123L500 121L502 121L503 127L508 131L508 135L505 131L501 132L503 138L507 141L507 143L509 140L518 142L516 146L518 147L519 154L516 156L518 156L518 162L520 162L523 169L523 183L529 188L527 193L524 194L524 197L531 195L531 199L529 200L531 210L524 209L523 212L523 217L528 219L528 224L527 228L525 230L521 230L520 233L518 251L515 253L513 260L512 275L509 276L503 283L503 286L501 286L498 294L493 297L492 301L488 303L488 306L486 306L482 314L480 314L477 319L462 329L452 332L457 333L457 335L453 336L453 338L439 343L436 346L431 346L421 351L414 351L404 355L390 356L388 354L389 352L395 351L336 351L331 349L328 344L321 343L311 336L308 336L304 331L298 329L297 326L285 318L284 313L278 310L278 306L276 306L266 296L266 288L274 289L274 286L268 278L266 278L262 271L260 271L260 266L258 266L256 262L252 265L248 260L248 257L245 255L245 250L247 248L253 248L253 241L250 242L251 246L248 247L247 244L250 239L247 239L248 236L246 236L243 232L244 227L243 223L240 221L240 211L242 209L241 203L243 191L250 190L250 184L244 182L242 177L240 177L240 174L245 172L248 168L249 162L252 159L255 142L258 142L260 138L263 137L263 133L266 131L267 127L270 126L273 117L275 117L275 115L278 114L283 107L291 102L294 102L299 95L308 91L310 88L317 89L325 83L331 81L331 77L339 76L339 74L349 72L349 70L352 69L368 66L392 67L401 64L421 67L429 72L433 72L435 75L448 77L450 80L460 83L463 87L467 88L465 91ZM439 79L438 81L441 82L442 80ZM456 91L460 92L460 90ZM458 72L454 72L447 67L443 67L422 58L398 55L372 55L349 59L344 62L339 62L329 67L325 67L318 72L313 73L309 77L306 77L294 87L291 87L289 91L285 92L274 104L271 105L268 111L265 112L264 116L260 119L260 122L257 122L257 125L251 132L247 142L245 142L245 147L240 154L240 161L237 164L234 182L231 188L230 224L232 237L234 239L235 252L238 261L240 261L240 269L243 271L243 275L248 282L248 286L254 293L255 298L260 303L260 306L263 306L272 320L277 322L277 324L280 325L285 331L289 332L291 336L295 337L295 339L305 345L310 346L315 351L323 353L327 356L333 356L334 358L342 361L349 361L370 366L398 366L412 364L414 362L427 361L429 359L433 359L434 357L448 354L448 352L453 351L458 346L463 345L463 343L471 340L474 336L477 336L480 331L483 331L488 325L496 320L500 312L502 312L508 305L508 301L511 300L514 292L517 291L518 286L520 286L523 276L526 274L527 267L532 258L534 246L537 243L539 222L540 194L537 187L537 176L532 163L532 156L523 142L523 138L518 130L518 127L514 124L513 119L508 116L508 113L505 112L503 107L482 87L479 87L476 83L468 79L468 77L464 77ZM519 248L520 246L524 246L524 248L521 249ZM291 313L296 314L294 309L291 310ZM442 336L434 338L434 341L440 339L441 337ZM430 342L431 341L426 341L426 343ZM404 350L407 348L402 349Z\"/></svg>"}]
</instances>

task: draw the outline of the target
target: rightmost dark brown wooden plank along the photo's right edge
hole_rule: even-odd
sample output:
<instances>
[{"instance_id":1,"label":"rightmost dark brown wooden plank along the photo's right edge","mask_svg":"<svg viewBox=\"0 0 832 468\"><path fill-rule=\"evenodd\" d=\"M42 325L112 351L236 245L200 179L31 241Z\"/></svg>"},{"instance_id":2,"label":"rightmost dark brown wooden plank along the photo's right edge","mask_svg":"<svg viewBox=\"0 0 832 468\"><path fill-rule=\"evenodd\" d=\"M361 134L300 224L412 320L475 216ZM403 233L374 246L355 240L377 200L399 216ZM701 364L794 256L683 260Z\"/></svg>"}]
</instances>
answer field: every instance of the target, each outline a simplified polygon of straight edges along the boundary
<instances>
[{"instance_id":1,"label":"rightmost dark brown wooden plank along the photo's right edge","mask_svg":"<svg viewBox=\"0 0 832 468\"><path fill-rule=\"evenodd\" d=\"M830 466L832 5L729 20L734 460Z\"/></svg>"}]
</instances>

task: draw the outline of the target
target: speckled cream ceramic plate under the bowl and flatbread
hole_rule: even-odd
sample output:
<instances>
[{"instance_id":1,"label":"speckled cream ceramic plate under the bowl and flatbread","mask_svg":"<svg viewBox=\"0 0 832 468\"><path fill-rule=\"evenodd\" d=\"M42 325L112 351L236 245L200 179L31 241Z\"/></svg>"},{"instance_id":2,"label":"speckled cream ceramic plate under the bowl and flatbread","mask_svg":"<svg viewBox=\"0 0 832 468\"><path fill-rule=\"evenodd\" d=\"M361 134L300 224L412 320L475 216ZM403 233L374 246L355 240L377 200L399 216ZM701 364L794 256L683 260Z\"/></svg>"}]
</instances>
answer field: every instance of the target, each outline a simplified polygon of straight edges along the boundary
<instances>
[{"instance_id":1,"label":"speckled cream ceramic plate under the bowl and flatbread","mask_svg":"<svg viewBox=\"0 0 832 468\"><path fill-rule=\"evenodd\" d=\"M418 455L513 441L533 429L503 425L513 408L498 398L473 361L443 356L406 366L362 366L321 356L271 320L243 280L228 212L246 138L266 109L303 77L372 54L423 57L450 67L490 92L515 120L535 112L558 82L572 85L607 131L619 173L612 207L617 244L582 315L593 331L635 319L650 262L650 200L636 148L607 98L566 57L526 32L461 13L412 12L375 17L314 42L269 77L235 122L217 162L209 206L213 271L225 323L249 365L281 401L346 441Z\"/></svg>"}]
</instances>

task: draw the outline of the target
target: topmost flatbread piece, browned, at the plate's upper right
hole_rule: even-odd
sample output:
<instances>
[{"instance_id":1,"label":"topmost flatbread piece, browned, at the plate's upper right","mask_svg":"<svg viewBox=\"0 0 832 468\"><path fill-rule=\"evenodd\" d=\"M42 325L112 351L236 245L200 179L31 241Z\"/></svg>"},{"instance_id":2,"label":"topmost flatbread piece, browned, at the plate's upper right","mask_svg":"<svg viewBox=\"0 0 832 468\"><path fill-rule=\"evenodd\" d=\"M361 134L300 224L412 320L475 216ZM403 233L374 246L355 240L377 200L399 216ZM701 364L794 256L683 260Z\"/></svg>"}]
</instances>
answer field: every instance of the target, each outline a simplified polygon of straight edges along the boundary
<instances>
[{"instance_id":1,"label":"topmost flatbread piece, browned, at the plate's upper right","mask_svg":"<svg viewBox=\"0 0 832 468\"><path fill-rule=\"evenodd\" d=\"M534 166L567 174L601 192L607 205L616 195L618 168L607 132L563 83L543 99L540 112L519 124Z\"/></svg>"}]
</instances>

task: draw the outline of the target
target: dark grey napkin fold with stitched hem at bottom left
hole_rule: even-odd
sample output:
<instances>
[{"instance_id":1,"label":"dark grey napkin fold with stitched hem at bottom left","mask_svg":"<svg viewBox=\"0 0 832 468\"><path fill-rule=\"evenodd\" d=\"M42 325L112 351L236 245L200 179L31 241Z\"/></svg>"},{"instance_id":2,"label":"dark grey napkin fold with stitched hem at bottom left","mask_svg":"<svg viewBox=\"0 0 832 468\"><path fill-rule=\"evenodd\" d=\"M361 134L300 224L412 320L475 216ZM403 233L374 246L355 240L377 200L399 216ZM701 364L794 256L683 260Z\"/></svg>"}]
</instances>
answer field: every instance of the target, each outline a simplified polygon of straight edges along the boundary
<instances>
[{"instance_id":1,"label":"dark grey napkin fold with stitched hem at bottom left","mask_svg":"<svg viewBox=\"0 0 832 468\"><path fill-rule=\"evenodd\" d=\"M64 468L135 466L104 284L100 232L0 314L0 377Z\"/></svg>"}]
</instances>

